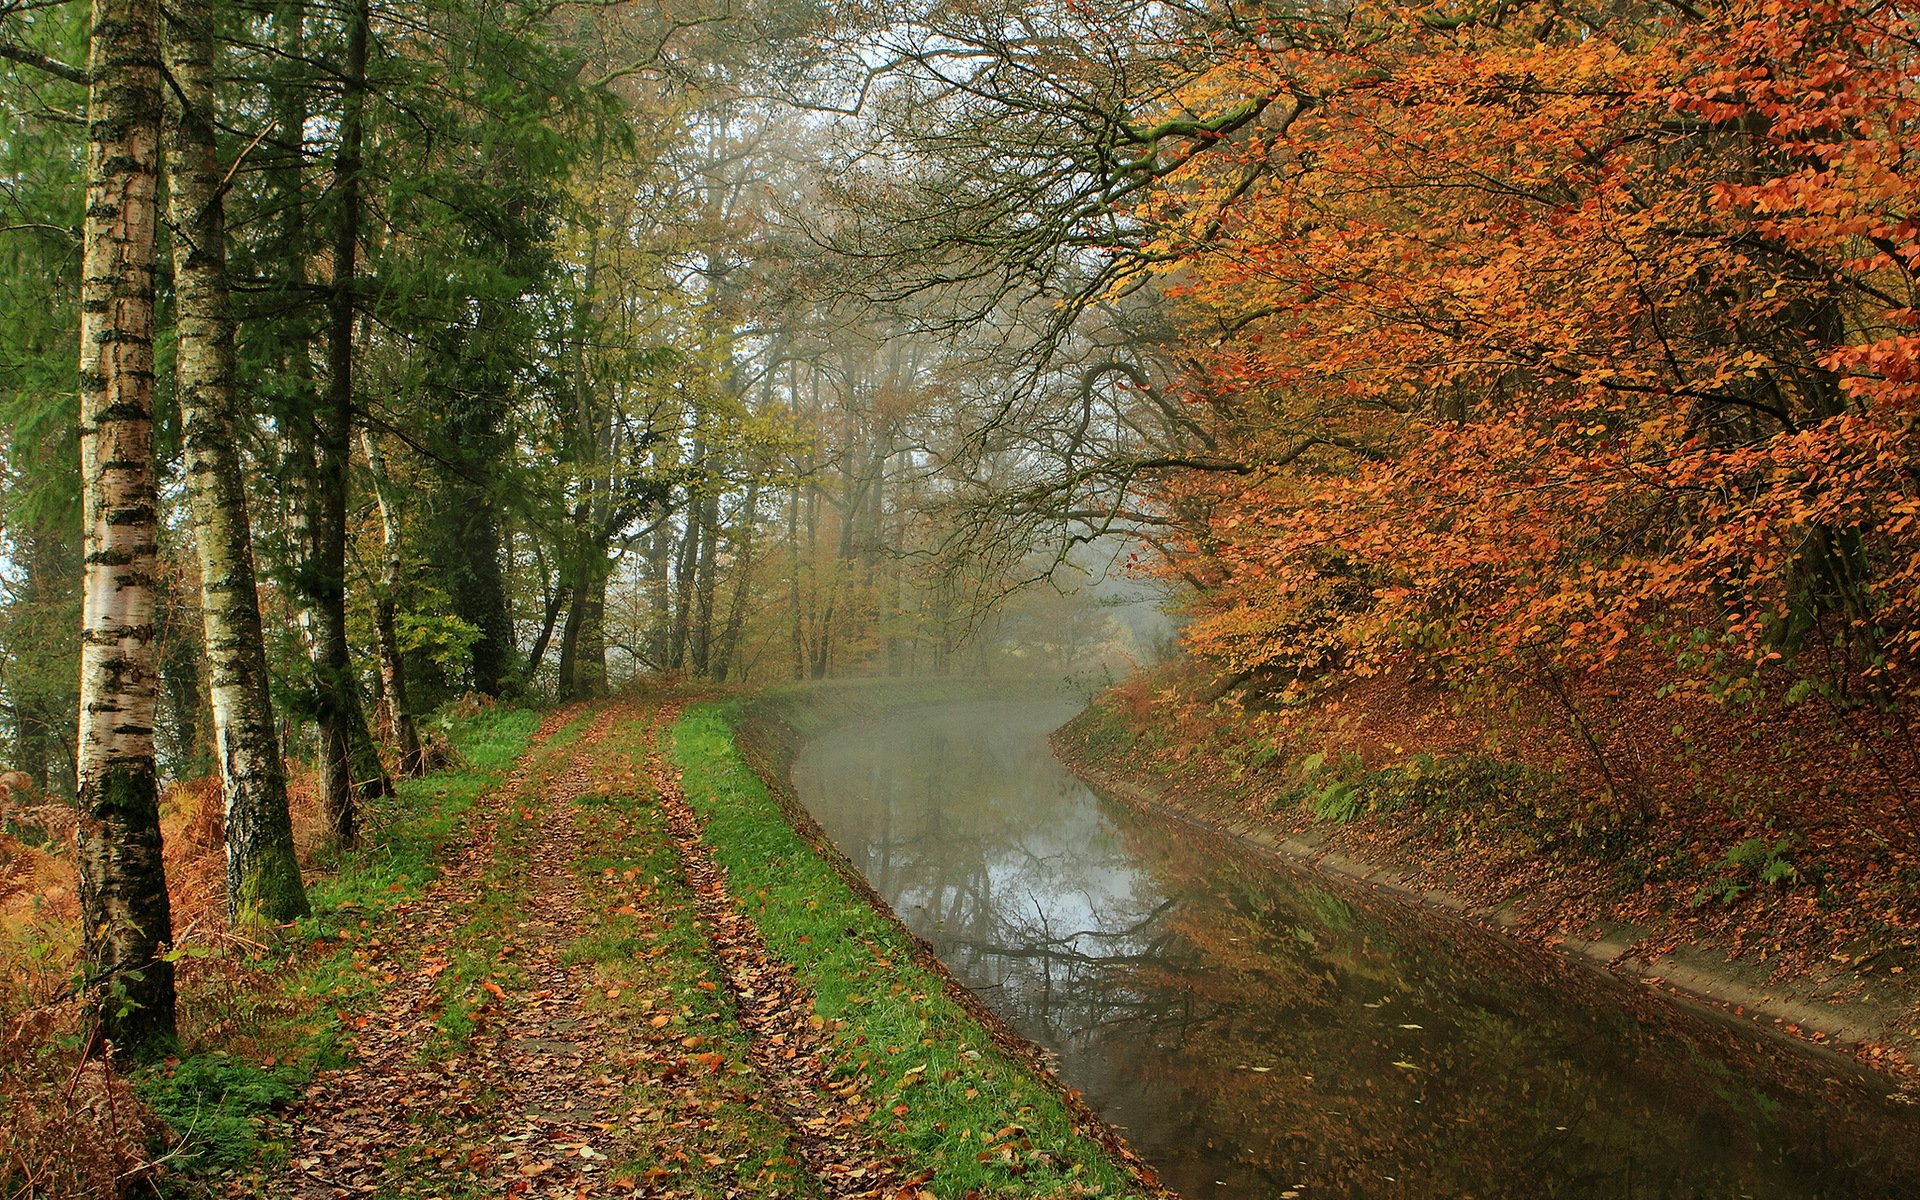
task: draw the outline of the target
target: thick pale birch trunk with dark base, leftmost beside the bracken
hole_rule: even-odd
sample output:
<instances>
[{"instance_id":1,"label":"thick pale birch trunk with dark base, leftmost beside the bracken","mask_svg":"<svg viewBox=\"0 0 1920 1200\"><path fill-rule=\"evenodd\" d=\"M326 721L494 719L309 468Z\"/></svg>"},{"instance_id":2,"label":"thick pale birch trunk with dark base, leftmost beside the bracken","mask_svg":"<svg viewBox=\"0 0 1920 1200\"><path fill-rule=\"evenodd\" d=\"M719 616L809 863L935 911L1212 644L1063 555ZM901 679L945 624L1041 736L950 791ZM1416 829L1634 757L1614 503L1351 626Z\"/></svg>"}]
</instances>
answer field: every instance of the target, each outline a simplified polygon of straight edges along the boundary
<instances>
[{"instance_id":1,"label":"thick pale birch trunk with dark base, leftmost beside the bracken","mask_svg":"<svg viewBox=\"0 0 1920 1200\"><path fill-rule=\"evenodd\" d=\"M159 6L94 0L81 259L79 858L90 1037L175 1037L173 939L154 768L154 257Z\"/></svg>"}]
</instances>

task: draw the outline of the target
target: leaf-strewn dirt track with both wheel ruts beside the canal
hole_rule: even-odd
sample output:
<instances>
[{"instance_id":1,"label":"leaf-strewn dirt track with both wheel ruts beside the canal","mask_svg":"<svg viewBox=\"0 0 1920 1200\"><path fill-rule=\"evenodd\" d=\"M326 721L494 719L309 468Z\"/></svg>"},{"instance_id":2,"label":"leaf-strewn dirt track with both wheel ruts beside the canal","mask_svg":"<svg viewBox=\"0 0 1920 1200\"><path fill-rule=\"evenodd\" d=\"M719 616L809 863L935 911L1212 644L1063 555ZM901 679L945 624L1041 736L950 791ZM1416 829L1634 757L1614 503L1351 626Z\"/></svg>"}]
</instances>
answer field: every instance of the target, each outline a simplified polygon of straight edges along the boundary
<instances>
[{"instance_id":1,"label":"leaf-strewn dirt track with both wheel ruts beside the canal","mask_svg":"<svg viewBox=\"0 0 1920 1200\"><path fill-rule=\"evenodd\" d=\"M267 1194L920 1194L920 1181L899 1179L897 1164L864 1133L866 1100L833 1091L826 1031L804 989L770 962L728 897L659 751L647 755L641 785L659 793L653 803L678 852L676 874L695 897L705 952L747 1041L751 1075L726 1087L778 1117L774 1140L785 1127L806 1179L799 1190L791 1181L762 1190L747 1179L716 1190L682 1179L670 1158L634 1169L636 1158L647 1160L636 1152L647 1119L664 1110L699 1121L722 1083L662 1060L662 1031L595 1002L603 985L595 966L568 956L605 920L576 872L584 851L603 849L582 845L578 812L584 795L605 789L601 774L612 762L595 751L616 726L647 730L655 745L674 720L672 708L612 703L555 751L549 743L582 712L563 708L541 722L513 774L470 810L465 837L445 847L426 895L378 925L348 931L378 998L349 1021L349 1064L323 1071L292 1114L290 1162ZM495 918L476 916L490 904ZM455 1004L472 1006L470 1031L449 1039L444 1014Z\"/></svg>"}]
</instances>

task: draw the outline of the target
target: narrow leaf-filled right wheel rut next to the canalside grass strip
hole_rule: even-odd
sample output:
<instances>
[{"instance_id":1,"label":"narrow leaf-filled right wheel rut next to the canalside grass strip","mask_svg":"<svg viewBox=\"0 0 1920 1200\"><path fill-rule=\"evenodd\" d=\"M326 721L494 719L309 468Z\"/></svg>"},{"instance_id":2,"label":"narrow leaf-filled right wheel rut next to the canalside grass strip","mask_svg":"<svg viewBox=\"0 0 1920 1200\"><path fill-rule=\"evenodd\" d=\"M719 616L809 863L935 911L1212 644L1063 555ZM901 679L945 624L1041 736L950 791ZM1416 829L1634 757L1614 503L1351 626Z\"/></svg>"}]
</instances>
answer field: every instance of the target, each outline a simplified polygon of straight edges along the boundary
<instances>
[{"instance_id":1,"label":"narrow leaf-filled right wheel rut next to the canalside grass strip","mask_svg":"<svg viewBox=\"0 0 1920 1200\"><path fill-rule=\"evenodd\" d=\"M733 1010L751 1035L749 1062L768 1083L776 1112L793 1129L808 1173L829 1196L924 1194L918 1187L924 1177L902 1179L899 1156L868 1133L872 1106L854 1089L833 1087L831 1044L812 1016L806 987L768 952L760 931L728 893L726 872L701 837L701 820L687 806L680 772L660 749L678 716L680 705L666 705L655 714L647 772Z\"/></svg>"}]
</instances>

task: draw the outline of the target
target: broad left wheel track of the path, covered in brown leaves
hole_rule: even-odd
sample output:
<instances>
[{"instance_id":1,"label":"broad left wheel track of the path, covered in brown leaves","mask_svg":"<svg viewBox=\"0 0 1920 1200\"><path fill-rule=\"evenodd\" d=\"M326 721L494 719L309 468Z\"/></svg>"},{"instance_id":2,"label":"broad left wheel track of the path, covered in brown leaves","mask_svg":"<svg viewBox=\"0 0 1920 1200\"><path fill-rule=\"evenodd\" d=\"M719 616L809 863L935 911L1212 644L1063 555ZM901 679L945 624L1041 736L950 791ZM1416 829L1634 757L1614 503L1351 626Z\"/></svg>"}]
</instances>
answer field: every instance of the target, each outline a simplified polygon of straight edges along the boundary
<instances>
[{"instance_id":1,"label":"broad left wheel track of the path, covered in brown leaves","mask_svg":"<svg viewBox=\"0 0 1920 1200\"><path fill-rule=\"evenodd\" d=\"M478 900L484 868L499 851L501 818L536 783L547 743L580 712L578 705L559 708L541 722L513 776L468 814L467 839L447 847L440 879L419 902L396 910L403 939L369 947L367 970L384 983L380 1002L355 1021L361 1029L349 1066L321 1073L296 1114L288 1194L403 1192L396 1167L449 1185L511 1181L511 1194L524 1196L632 1194L595 1187L597 1164L609 1154L593 1148L589 1127L605 1123L620 1085L605 1069L611 1064L593 1058L576 972L557 960L557 947L568 941L564 929L578 924L568 851L557 829L568 793L576 795L586 780L584 751L605 735L611 712L595 720L574 751L574 766L547 795L551 808L532 852L534 902L513 939L526 948L534 991L520 1004L486 993L482 1021L492 1014L495 1027L476 1035L465 1052L438 1060L430 1054L442 1008L436 979L449 964L455 929ZM422 1144L422 1131L445 1137ZM397 1164L396 1152L409 1162Z\"/></svg>"}]
</instances>

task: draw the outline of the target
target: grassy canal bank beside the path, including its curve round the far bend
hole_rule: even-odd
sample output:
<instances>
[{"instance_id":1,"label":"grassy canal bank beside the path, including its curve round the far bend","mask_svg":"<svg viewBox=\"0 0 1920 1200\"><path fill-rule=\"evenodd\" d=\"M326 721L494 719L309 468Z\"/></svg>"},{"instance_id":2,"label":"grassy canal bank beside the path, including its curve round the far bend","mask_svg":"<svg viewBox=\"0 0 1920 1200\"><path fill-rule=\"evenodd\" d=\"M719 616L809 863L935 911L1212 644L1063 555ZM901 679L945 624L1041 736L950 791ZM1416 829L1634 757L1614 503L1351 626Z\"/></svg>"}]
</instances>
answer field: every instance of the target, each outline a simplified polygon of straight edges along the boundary
<instances>
[{"instance_id":1,"label":"grassy canal bank beside the path, including its curve round the far bend","mask_svg":"<svg viewBox=\"0 0 1920 1200\"><path fill-rule=\"evenodd\" d=\"M1062 1085L1054 1060L895 918L789 783L797 751L826 728L862 728L956 693L1046 689L1020 680L778 689L691 708L672 730L670 760L728 891L774 954L812 981L843 1081L854 1064L849 1087L891 1096L868 1123L929 1165L922 1196L1177 1200Z\"/></svg>"}]
</instances>

